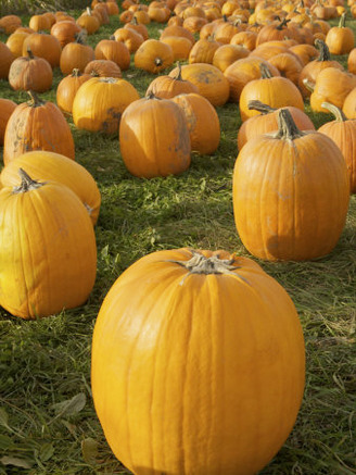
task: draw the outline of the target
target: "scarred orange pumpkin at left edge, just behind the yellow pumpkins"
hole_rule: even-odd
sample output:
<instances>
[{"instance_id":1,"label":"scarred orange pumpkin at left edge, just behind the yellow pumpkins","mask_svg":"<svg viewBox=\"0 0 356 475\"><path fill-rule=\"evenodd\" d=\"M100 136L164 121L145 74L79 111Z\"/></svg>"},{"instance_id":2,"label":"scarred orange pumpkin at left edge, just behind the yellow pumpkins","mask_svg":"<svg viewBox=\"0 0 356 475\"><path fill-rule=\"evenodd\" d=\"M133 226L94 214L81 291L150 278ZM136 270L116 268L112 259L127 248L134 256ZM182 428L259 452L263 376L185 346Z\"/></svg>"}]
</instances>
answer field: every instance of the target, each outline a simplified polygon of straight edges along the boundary
<instances>
[{"instance_id":1,"label":"scarred orange pumpkin at left edge, just behind the yellow pumpkins","mask_svg":"<svg viewBox=\"0 0 356 475\"><path fill-rule=\"evenodd\" d=\"M71 128L60 109L29 92L31 100L11 114L3 139L3 163L31 150L48 150L74 160Z\"/></svg>"}]
</instances>

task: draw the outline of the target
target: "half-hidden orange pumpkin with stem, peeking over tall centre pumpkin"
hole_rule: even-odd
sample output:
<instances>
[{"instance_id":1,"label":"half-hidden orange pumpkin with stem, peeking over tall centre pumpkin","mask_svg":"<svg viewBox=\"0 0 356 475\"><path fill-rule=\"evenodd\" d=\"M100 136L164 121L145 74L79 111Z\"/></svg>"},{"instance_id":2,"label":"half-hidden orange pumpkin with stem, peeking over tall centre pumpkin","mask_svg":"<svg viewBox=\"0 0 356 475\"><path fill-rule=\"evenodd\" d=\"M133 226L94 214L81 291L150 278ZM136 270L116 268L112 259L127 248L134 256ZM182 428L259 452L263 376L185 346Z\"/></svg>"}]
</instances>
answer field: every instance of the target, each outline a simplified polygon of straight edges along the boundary
<instances>
[{"instance_id":1,"label":"half-hidden orange pumpkin with stem, peeking over tall centre pumpkin","mask_svg":"<svg viewBox=\"0 0 356 475\"><path fill-rule=\"evenodd\" d=\"M171 99L180 93L198 91L199 89L193 83L181 77L181 65L178 63L178 72L175 77L166 75L156 77L148 87L145 95L153 93L161 99Z\"/></svg>"}]
</instances>

